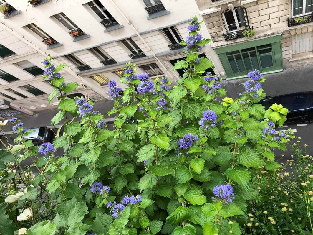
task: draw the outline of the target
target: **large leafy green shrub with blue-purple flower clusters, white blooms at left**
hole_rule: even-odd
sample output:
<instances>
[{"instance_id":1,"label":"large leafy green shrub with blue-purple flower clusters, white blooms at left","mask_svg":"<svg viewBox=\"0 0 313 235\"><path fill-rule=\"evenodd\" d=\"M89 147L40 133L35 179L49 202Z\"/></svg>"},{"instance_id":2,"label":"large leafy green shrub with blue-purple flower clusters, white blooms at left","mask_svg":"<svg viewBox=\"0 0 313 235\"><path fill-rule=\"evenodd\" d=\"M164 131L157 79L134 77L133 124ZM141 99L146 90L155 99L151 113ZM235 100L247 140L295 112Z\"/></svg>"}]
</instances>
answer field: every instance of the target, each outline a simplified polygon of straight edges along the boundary
<instances>
[{"instance_id":1,"label":"large leafy green shrub with blue-purple flower clusters, white blooms at left","mask_svg":"<svg viewBox=\"0 0 313 235\"><path fill-rule=\"evenodd\" d=\"M265 97L259 70L249 72L238 99L224 97L221 78L205 73L212 62L199 57L201 46L210 42L199 34L201 23L195 17L188 26L189 36L181 42L187 58L173 67L185 73L172 89L166 77L152 81L146 73L136 75L131 63L123 68L126 89L110 81L114 130L107 129L87 94L67 98L79 85L65 83L60 74L65 65L43 61L44 79L54 87L48 100L59 100L51 122L64 120L64 134L33 146L23 123L11 120L16 145L1 140L0 150L1 234L244 231L247 202L259 199L261 169L278 169L273 148L285 150L293 137L291 131L273 131L288 110L274 104L265 111L258 104ZM56 154L60 148L62 156ZM23 169L20 162L27 158L33 164Z\"/></svg>"}]
</instances>

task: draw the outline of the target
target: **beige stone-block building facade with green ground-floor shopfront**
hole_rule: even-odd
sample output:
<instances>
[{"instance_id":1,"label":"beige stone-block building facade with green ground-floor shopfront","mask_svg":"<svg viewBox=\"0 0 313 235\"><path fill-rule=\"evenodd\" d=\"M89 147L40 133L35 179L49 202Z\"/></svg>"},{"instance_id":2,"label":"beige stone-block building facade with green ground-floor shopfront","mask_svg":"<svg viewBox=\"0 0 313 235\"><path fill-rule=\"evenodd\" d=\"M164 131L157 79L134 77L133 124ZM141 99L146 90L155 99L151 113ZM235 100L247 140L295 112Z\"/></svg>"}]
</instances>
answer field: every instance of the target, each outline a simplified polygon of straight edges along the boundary
<instances>
[{"instance_id":1,"label":"beige stone-block building facade with green ground-floor shopfront","mask_svg":"<svg viewBox=\"0 0 313 235\"><path fill-rule=\"evenodd\" d=\"M196 0L226 79L313 63L310 0Z\"/></svg>"}]
</instances>

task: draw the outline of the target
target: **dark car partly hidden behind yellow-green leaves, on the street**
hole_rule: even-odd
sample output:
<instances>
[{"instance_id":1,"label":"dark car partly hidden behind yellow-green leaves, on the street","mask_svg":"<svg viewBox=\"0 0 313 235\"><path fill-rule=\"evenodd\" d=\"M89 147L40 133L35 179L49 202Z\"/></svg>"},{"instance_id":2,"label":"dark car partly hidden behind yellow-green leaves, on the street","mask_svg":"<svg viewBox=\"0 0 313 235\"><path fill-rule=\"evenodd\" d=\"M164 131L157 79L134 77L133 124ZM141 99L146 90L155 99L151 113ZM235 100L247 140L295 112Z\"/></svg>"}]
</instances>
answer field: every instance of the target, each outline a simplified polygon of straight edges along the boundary
<instances>
[{"instance_id":1,"label":"dark car partly hidden behind yellow-green leaves, on the street","mask_svg":"<svg viewBox=\"0 0 313 235\"><path fill-rule=\"evenodd\" d=\"M288 108L289 113L287 114L286 124L313 122L313 92L311 91L266 97L261 103L265 109L275 103Z\"/></svg>"}]
</instances>

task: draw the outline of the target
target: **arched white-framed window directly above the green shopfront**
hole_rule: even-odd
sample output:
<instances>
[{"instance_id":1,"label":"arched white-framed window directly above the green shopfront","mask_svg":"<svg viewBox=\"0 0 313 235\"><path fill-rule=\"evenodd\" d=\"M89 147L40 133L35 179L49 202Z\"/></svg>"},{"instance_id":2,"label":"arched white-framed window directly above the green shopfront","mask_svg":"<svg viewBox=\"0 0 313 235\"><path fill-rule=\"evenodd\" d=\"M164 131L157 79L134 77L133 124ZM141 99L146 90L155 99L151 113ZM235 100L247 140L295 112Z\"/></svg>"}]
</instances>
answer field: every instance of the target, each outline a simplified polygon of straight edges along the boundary
<instances>
[{"instance_id":1,"label":"arched white-framed window directly above the green shopfront","mask_svg":"<svg viewBox=\"0 0 313 235\"><path fill-rule=\"evenodd\" d=\"M246 9L243 7L224 11L223 19L228 33L249 28Z\"/></svg>"}]
</instances>

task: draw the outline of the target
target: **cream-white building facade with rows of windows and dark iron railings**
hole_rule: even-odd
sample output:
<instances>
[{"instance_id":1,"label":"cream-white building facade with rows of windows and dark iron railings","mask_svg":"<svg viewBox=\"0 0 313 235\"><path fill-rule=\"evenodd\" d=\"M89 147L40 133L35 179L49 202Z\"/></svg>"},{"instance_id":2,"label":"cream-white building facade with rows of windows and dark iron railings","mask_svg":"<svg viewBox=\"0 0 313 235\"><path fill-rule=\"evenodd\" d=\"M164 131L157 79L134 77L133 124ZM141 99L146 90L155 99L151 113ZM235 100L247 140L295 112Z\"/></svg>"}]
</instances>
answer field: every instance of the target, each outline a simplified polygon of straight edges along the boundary
<instances>
[{"instance_id":1,"label":"cream-white building facade with rows of windows and dark iron railings","mask_svg":"<svg viewBox=\"0 0 313 235\"><path fill-rule=\"evenodd\" d=\"M128 61L137 65L137 73L167 76L175 83L182 74L172 72L172 65L186 56L179 42L188 35L187 22L199 15L197 3L190 0L33 0L33 4L0 0L0 4L5 6L0 19L0 100L31 112L58 105L57 99L47 102L52 87L42 80L40 61L48 54L68 65L62 74L66 82L80 84L81 79L94 101L110 100L108 81L118 82ZM201 33L210 38L205 27ZM202 47L201 54L215 64L213 73L223 75L210 45ZM82 90L69 97L83 94Z\"/></svg>"}]
</instances>

